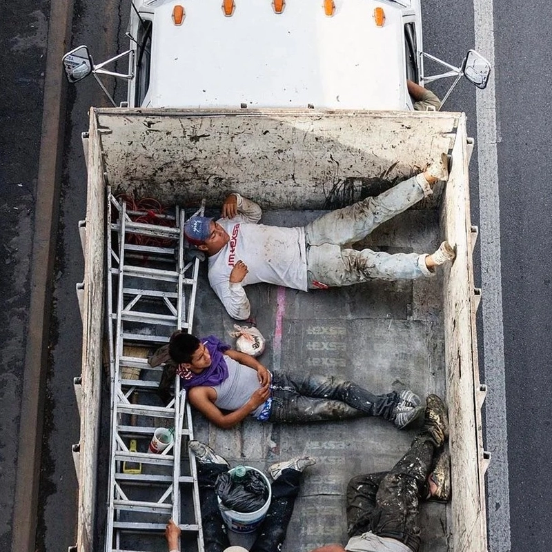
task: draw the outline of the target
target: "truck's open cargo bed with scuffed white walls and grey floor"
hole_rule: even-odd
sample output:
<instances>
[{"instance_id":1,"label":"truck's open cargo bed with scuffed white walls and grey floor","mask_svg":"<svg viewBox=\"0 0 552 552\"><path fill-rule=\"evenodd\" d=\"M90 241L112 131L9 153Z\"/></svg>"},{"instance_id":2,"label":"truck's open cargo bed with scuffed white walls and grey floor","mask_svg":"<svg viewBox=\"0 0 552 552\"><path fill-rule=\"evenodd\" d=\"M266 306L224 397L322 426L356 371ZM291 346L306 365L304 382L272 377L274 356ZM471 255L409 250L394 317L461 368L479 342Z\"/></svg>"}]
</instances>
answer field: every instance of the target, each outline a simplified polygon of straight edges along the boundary
<instances>
[{"instance_id":1,"label":"truck's open cargo bed with scuffed white walls and grey floor","mask_svg":"<svg viewBox=\"0 0 552 552\"><path fill-rule=\"evenodd\" d=\"M482 446L485 393L475 331L480 291L473 286L471 259L477 237L469 214L473 142L466 137L464 115L92 109L86 144L78 552L103 549L106 519L101 468L109 444L99 423L99 404L103 419L109 417L101 370L104 313L99 308L105 297L106 188L186 208L197 208L205 199L211 209L237 191L259 201L265 223L296 226L319 215L320 209L377 195L442 151L453 159L446 186L382 225L366 245L390 253L424 253L446 238L457 247L452 266L415 282L371 282L308 293L257 285L247 292L257 327L268 339L261 357L268 368L342 375L374 393L411 388L421 396L445 397L453 498L447 506L423 506L422 550L486 551L484 471L489 457ZM203 266L194 333L214 333L232 343L233 324L210 290ZM295 455L317 458L304 477L288 531L288 552L345 543L349 478L390 469L415 434L366 418L306 426L247 420L221 431L200 415L195 416L195 431L196 438L231 463L266 469ZM155 538L157 542L133 549L159 550L162 536Z\"/></svg>"}]
</instances>

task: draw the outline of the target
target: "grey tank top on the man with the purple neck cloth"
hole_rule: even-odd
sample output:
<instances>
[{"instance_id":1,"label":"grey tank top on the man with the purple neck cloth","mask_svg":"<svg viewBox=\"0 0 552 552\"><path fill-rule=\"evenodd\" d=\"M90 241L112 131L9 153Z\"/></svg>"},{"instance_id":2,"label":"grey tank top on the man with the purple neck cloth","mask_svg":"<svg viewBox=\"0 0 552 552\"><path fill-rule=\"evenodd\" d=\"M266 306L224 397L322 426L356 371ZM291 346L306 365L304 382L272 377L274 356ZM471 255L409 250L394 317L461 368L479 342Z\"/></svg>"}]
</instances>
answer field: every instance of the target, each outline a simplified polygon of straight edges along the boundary
<instances>
[{"instance_id":1,"label":"grey tank top on the man with the purple neck cloth","mask_svg":"<svg viewBox=\"0 0 552 552\"><path fill-rule=\"evenodd\" d=\"M213 386L213 389L217 391L215 405L222 410L235 411L248 402L261 384L259 384L257 371L253 368L239 364L226 355L224 355L224 360L228 366L228 377L221 384ZM259 415L263 406L264 404L257 407L251 415Z\"/></svg>"}]
</instances>

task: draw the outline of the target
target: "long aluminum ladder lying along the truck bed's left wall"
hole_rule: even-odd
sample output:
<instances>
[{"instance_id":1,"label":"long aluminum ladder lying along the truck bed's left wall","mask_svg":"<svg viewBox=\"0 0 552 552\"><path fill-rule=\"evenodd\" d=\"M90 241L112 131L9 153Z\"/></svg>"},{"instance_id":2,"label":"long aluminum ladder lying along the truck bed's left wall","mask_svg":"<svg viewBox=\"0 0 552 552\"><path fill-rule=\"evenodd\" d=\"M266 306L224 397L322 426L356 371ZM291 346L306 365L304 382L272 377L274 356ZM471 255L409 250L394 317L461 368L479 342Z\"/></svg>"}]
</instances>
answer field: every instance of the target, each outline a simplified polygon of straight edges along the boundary
<instances>
[{"instance_id":1,"label":"long aluminum ladder lying along the truck bed's left wall","mask_svg":"<svg viewBox=\"0 0 552 552\"><path fill-rule=\"evenodd\" d=\"M203 213L204 204L193 215ZM170 226L134 221L144 215L108 190L111 444L105 550L159 549L160 533L172 517L183 537L192 542L195 537L198 552L204 552L195 456L187 447L194 436L186 391L176 377L174 398L159 406L155 391L162 366L152 368L141 354L166 344L177 328L191 331L199 259L184 258L184 210L177 207L174 216L153 221L164 219ZM157 426L174 432L172 444L155 454L148 444ZM182 475L186 458L189 475Z\"/></svg>"}]
</instances>

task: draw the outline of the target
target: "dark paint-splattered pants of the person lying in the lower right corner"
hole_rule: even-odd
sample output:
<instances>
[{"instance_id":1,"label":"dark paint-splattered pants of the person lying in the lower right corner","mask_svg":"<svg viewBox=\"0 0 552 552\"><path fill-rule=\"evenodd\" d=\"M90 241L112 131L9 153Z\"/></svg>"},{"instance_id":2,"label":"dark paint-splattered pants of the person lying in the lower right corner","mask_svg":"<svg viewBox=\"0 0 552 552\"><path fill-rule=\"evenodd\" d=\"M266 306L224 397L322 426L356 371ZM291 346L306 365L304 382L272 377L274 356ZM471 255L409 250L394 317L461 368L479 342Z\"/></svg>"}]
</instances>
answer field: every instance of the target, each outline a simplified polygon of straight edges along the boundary
<instances>
[{"instance_id":1,"label":"dark paint-splattered pants of the person lying in the lower right corner","mask_svg":"<svg viewBox=\"0 0 552 552\"><path fill-rule=\"evenodd\" d=\"M420 549L420 497L426 491L433 464L434 445L424 435L415 438L408 452L388 472L357 475L347 487L349 537L371 531L381 537Z\"/></svg>"}]
</instances>

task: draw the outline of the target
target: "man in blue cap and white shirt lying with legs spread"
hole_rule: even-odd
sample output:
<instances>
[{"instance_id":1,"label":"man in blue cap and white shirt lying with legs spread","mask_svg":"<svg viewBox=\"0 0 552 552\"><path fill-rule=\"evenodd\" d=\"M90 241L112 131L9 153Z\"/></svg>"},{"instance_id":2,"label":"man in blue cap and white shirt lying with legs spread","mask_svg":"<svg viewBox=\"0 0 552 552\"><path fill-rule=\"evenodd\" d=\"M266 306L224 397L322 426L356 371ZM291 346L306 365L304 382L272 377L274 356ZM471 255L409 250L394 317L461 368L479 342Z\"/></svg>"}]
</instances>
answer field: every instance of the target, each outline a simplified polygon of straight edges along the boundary
<instances>
[{"instance_id":1,"label":"man in blue cap and white shirt lying with legs spread","mask_svg":"<svg viewBox=\"0 0 552 552\"><path fill-rule=\"evenodd\" d=\"M250 317L244 291L249 284L275 284L297 290L350 286L372 279L429 277L455 257L448 242L431 255L362 251L351 248L384 221L433 193L437 181L449 178L442 154L424 172L377 197L322 215L295 228L257 224L261 208L237 193L222 206L222 218L191 217L184 231L188 242L208 256L209 283L236 319Z\"/></svg>"}]
</instances>

